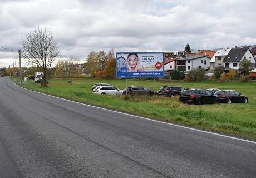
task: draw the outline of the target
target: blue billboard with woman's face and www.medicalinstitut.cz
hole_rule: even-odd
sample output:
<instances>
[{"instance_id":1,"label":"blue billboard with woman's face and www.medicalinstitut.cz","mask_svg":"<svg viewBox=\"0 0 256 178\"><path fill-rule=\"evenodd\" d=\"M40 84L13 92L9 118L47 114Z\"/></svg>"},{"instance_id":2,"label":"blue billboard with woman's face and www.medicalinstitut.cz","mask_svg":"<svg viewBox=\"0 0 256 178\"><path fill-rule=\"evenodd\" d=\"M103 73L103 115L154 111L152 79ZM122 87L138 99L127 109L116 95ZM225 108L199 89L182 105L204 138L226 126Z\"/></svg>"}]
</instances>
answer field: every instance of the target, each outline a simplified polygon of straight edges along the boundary
<instances>
[{"instance_id":1,"label":"blue billboard with woman's face and www.medicalinstitut.cz","mask_svg":"<svg viewBox=\"0 0 256 178\"><path fill-rule=\"evenodd\" d=\"M164 77L164 52L117 52L116 77Z\"/></svg>"}]
</instances>

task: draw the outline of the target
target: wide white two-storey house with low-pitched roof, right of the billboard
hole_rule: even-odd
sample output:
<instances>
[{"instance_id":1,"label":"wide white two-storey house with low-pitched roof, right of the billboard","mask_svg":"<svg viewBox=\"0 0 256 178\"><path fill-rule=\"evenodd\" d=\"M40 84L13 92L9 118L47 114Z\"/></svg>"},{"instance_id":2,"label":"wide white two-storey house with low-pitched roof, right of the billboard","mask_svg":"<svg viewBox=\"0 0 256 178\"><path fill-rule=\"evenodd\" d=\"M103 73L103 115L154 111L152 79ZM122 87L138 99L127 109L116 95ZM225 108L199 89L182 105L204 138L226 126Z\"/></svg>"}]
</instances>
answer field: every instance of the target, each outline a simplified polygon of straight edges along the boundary
<instances>
[{"instance_id":1,"label":"wide white two-storey house with low-pitched roof, right of the billboard","mask_svg":"<svg viewBox=\"0 0 256 178\"><path fill-rule=\"evenodd\" d=\"M210 68L210 58L208 55L189 56L178 58L176 61L176 70L189 72L193 68Z\"/></svg>"}]
</instances>

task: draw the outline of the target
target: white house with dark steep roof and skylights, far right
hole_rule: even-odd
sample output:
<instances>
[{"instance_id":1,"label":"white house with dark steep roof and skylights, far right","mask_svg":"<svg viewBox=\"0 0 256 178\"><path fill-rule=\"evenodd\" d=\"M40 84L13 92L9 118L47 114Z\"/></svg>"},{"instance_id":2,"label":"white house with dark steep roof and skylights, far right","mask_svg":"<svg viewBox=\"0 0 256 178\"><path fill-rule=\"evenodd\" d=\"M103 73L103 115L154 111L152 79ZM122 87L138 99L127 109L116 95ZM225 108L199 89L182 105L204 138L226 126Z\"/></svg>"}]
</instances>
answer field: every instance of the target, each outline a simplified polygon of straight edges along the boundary
<instances>
[{"instance_id":1,"label":"white house with dark steep roof and skylights, far right","mask_svg":"<svg viewBox=\"0 0 256 178\"><path fill-rule=\"evenodd\" d=\"M223 65L226 71L230 70L231 68L233 68L234 70L239 70L239 63L243 59L248 59L252 63L251 67L255 68L255 58L252 52L250 52L249 48L247 47L231 49L228 55L224 58Z\"/></svg>"}]
</instances>

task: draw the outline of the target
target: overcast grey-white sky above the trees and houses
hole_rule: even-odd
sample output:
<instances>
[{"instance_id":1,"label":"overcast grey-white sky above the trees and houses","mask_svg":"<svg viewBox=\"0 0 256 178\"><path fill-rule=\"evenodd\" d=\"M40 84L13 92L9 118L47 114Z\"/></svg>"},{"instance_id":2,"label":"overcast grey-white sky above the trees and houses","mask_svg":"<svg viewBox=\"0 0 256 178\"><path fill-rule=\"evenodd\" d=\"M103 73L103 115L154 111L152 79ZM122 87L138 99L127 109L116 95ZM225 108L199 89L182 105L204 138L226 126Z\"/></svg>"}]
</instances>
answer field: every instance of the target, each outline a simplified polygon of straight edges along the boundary
<instances>
[{"instance_id":1,"label":"overcast grey-white sky above the trees and houses","mask_svg":"<svg viewBox=\"0 0 256 178\"><path fill-rule=\"evenodd\" d=\"M17 50L36 27L57 39L63 57L91 50L194 50L256 45L255 1L1 0L0 46ZM0 66L18 53L0 49ZM9 64L8 64L9 65Z\"/></svg>"}]
</instances>

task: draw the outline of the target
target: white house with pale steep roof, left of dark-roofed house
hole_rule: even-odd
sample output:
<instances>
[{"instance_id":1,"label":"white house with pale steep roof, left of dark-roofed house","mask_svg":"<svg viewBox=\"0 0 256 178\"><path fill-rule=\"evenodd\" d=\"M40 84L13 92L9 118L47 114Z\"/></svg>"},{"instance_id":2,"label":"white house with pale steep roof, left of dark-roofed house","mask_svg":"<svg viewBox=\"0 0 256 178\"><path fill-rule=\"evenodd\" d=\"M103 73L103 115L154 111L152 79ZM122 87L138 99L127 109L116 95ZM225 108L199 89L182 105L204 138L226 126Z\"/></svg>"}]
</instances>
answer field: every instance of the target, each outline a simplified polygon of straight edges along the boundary
<instances>
[{"instance_id":1,"label":"white house with pale steep roof, left of dark-roofed house","mask_svg":"<svg viewBox=\"0 0 256 178\"><path fill-rule=\"evenodd\" d=\"M210 60L210 68L212 71L214 70L214 68L223 65L223 60L228 55L229 51L229 48L224 48L216 51L216 53Z\"/></svg>"}]
</instances>

